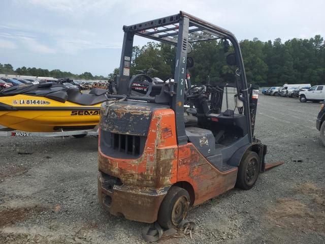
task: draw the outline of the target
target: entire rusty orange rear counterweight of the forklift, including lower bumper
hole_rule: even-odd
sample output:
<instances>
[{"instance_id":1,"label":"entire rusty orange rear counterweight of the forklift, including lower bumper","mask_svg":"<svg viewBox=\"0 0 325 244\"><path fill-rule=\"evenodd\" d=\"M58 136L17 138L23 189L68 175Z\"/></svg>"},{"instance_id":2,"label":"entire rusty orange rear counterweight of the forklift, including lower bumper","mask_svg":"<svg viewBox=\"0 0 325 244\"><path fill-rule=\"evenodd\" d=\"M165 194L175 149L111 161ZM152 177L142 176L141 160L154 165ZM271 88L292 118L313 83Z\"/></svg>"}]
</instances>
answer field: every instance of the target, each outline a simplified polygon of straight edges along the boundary
<instances>
[{"instance_id":1,"label":"entire rusty orange rear counterweight of the forklift, including lower bumper","mask_svg":"<svg viewBox=\"0 0 325 244\"><path fill-rule=\"evenodd\" d=\"M111 214L152 223L169 187L177 181L174 111L153 111L148 128L143 154L138 159L112 158L104 155L99 147L98 191L100 203ZM163 133L164 128L167 130ZM101 172L119 178L122 185L105 188Z\"/></svg>"}]
</instances>

